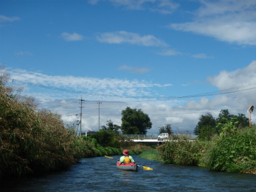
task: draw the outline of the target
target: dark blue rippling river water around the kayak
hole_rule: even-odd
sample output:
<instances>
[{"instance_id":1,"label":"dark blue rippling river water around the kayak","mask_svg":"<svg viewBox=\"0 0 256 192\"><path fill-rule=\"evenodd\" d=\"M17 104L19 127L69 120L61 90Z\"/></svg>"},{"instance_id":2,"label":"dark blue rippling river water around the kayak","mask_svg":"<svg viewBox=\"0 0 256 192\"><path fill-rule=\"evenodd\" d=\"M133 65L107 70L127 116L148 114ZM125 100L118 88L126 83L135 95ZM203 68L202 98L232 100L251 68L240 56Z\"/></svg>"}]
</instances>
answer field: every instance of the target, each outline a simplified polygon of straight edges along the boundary
<instances>
[{"instance_id":1,"label":"dark blue rippling river water around the kayak","mask_svg":"<svg viewBox=\"0 0 256 192\"><path fill-rule=\"evenodd\" d=\"M120 156L113 156L119 158ZM83 158L64 172L1 181L0 191L256 191L256 175L211 172L197 166L177 166L132 155L138 172L116 169L116 160Z\"/></svg>"}]
</instances>

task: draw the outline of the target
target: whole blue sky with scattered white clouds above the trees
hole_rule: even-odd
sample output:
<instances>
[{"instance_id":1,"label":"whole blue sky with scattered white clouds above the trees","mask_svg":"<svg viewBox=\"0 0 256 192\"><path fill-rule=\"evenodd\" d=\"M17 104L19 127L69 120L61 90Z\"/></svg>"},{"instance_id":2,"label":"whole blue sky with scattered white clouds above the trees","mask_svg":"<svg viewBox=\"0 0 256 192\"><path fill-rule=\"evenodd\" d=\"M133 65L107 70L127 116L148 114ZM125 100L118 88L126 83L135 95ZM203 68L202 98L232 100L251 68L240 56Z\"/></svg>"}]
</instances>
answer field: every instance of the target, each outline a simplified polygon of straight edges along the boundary
<instances>
[{"instance_id":1,"label":"whole blue sky with scattered white clouds above the trees","mask_svg":"<svg viewBox=\"0 0 256 192\"><path fill-rule=\"evenodd\" d=\"M83 131L121 125L129 106L149 115L148 134L192 133L206 112L249 118L255 31L254 0L1 0L0 62L64 123L86 100Z\"/></svg>"}]
</instances>

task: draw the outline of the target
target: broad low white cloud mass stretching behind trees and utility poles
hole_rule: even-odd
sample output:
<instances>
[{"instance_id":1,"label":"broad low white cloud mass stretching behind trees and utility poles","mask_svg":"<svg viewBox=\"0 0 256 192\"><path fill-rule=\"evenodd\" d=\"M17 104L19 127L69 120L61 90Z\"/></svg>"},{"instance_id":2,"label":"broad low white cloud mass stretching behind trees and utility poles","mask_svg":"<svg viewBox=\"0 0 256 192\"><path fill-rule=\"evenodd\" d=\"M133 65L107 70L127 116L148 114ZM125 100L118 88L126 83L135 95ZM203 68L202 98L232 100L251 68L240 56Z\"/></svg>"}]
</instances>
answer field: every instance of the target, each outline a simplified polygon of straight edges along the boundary
<instances>
[{"instance_id":1,"label":"broad low white cloud mass stretching behind trees and utility poles","mask_svg":"<svg viewBox=\"0 0 256 192\"><path fill-rule=\"evenodd\" d=\"M126 66L124 68L128 68ZM170 84L160 85L154 82L121 79L99 79L89 77L73 76L50 76L39 72L27 72L26 70L13 69L11 78L31 82L37 85L52 87L52 90L40 88L39 86L28 86L25 94L34 96L43 107L63 115L65 121L74 121L76 117L70 118L80 112L80 104L77 102L67 106L70 101L75 101L83 96L86 99L83 104L83 131L98 130L98 107L100 104L100 126L105 125L107 120L121 125L121 110L126 107L141 109L149 115L153 126L148 134L157 134L159 127L170 123L173 131L189 131L193 133L200 115L211 112L216 118L220 110L228 109L231 114L238 115L246 113L250 105L255 105L255 80L256 61L243 69L233 72L222 71L217 76L208 77L208 82L219 90L225 90L225 94L201 96L199 99L171 98L156 96L157 88L165 88ZM55 88L63 88L68 92ZM221 92L220 92L221 93ZM198 100L198 101L197 101ZM57 107L56 107L57 106ZM59 106L59 107L58 107ZM252 113L252 123L256 117Z\"/></svg>"}]
</instances>

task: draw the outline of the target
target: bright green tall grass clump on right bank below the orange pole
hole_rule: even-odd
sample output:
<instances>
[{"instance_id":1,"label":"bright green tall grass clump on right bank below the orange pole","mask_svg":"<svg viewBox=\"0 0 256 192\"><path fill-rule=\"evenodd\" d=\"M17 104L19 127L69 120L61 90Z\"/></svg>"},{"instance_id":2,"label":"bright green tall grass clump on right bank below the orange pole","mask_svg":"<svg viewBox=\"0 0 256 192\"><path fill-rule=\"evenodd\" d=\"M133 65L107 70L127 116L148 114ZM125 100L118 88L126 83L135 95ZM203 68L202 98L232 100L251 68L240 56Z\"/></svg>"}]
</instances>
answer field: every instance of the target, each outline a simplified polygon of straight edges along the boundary
<instances>
[{"instance_id":1,"label":"bright green tall grass clump on right bank below the orange pole","mask_svg":"<svg viewBox=\"0 0 256 192\"><path fill-rule=\"evenodd\" d=\"M214 145L206 150L203 164L221 172L242 172L256 169L256 127L224 129Z\"/></svg>"}]
</instances>

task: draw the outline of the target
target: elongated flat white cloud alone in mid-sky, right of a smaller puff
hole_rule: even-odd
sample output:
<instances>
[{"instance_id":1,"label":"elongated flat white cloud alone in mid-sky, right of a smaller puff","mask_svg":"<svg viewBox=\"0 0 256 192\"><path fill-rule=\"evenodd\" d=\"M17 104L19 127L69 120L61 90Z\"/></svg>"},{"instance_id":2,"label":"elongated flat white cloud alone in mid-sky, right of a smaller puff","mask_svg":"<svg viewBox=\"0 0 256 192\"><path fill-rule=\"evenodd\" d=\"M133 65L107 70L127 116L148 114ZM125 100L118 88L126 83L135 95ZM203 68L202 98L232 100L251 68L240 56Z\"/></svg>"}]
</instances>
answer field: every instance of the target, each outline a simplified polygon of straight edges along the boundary
<instances>
[{"instance_id":1,"label":"elongated flat white cloud alone in mid-sky, right of a smaller puff","mask_svg":"<svg viewBox=\"0 0 256 192\"><path fill-rule=\"evenodd\" d=\"M139 34L130 33L127 31L116 31L97 35L99 42L105 42L110 44L129 43L132 45L141 46L156 46L167 47L167 43L160 39L157 39L153 35L140 36Z\"/></svg>"}]
</instances>

